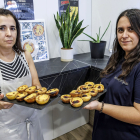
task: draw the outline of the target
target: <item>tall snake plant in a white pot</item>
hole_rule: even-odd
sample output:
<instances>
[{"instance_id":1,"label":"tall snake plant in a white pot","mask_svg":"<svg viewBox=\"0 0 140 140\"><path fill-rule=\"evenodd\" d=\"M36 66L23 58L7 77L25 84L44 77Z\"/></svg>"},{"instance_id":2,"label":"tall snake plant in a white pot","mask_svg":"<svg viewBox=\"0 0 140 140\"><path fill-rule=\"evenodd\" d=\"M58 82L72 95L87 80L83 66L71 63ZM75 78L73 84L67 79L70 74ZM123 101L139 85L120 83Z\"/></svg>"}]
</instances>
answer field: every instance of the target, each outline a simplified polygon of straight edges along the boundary
<instances>
[{"instance_id":1,"label":"tall snake plant in a white pot","mask_svg":"<svg viewBox=\"0 0 140 140\"><path fill-rule=\"evenodd\" d=\"M54 20L63 45L61 48L61 61L72 61L73 48L71 48L71 45L86 28L81 28L83 20L78 22L78 13L75 15L75 12L72 14L72 17L70 17L69 6L66 13L61 14L61 16L59 16L57 12L57 15L54 15Z\"/></svg>"}]
</instances>

